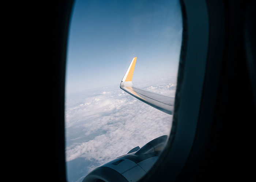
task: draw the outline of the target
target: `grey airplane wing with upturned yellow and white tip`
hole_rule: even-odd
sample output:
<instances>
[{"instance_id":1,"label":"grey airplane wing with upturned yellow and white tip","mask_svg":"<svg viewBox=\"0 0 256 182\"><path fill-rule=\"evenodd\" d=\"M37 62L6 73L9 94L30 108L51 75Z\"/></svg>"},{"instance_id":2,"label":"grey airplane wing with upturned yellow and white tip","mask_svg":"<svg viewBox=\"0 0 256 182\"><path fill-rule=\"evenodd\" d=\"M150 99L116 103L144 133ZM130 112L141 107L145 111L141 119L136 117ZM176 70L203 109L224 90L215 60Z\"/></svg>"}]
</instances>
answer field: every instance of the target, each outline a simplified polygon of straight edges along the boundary
<instances>
[{"instance_id":1,"label":"grey airplane wing with upturned yellow and white tip","mask_svg":"<svg viewBox=\"0 0 256 182\"><path fill-rule=\"evenodd\" d=\"M120 88L127 92L128 94L134 96L135 98L141 100L142 102L157 108L167 114L173 113L174 108L174 98L157 94L155 92L150 92L142 88L133 87L132 76L135 68L137 57L132 59L132 62L124 75L120 83Z\"/></svg>"}]
</instances>

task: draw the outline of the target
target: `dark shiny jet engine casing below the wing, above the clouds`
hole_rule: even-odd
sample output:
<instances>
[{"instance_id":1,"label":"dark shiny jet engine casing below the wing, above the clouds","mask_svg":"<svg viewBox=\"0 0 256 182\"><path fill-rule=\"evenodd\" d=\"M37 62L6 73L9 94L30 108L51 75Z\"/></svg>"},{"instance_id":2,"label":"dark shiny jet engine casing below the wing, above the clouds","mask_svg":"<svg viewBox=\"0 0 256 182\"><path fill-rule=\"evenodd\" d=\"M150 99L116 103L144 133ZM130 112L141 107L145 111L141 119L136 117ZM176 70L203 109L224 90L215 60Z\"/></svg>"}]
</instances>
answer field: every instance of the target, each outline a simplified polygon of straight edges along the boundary
<instances>
[{"instance_id":1,"label":"dark shiny jet engine casing below the wing, above the clouds","mask_svg":"<svg viewBox=\"0 0 256 182\"><path fill-rule=\"evenodd\" d=\"M83 182L135 182L142 178L157 161L167 135L155 138L142 148L135 147L91 171Z\"/></svg>"}]
</instances>

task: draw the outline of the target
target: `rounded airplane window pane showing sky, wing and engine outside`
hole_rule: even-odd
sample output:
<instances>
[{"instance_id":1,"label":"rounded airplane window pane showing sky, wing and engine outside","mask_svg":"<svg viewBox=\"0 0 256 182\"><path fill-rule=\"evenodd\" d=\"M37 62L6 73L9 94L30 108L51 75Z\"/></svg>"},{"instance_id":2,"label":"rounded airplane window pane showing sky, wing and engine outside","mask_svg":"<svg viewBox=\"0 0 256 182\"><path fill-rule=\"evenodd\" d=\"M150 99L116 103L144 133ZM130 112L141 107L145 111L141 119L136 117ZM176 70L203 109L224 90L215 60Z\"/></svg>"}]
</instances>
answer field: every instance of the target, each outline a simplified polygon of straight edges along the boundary
<instances>
[{"instance_id":1,"label":"rounded airplane window pane showing sky, wing and engine outside","mask_svg":"<svg viewBox=\"0 0 256 182\"><path fill-rule=\"evenodd\" d=\"M82 182L99 166L136 181L153 166L172 126L181 37L178 0L75 1L65 83L68 181Z\"/></svg>"}]
</instances>

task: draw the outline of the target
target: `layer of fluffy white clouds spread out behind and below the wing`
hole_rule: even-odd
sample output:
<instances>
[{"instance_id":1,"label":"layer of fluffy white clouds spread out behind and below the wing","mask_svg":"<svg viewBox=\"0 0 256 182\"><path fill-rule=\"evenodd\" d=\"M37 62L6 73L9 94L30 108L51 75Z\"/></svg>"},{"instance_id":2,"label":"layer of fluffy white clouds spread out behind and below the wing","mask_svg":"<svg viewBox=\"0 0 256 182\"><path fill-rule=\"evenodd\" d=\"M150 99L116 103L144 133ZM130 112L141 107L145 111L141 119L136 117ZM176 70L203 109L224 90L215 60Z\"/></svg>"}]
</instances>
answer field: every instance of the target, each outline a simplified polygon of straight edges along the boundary
<instances>
[{"instance_id":1,"label":"layer of fluffy white clouds spread out behind and below the wing","mask_svg":"<svg viewBox=\"0 0 256 182\"><path fill-rule=\"evenodd\" d=\"M144 88L174 96L176 84L175 81L170 84L170 78L169 82L162 79L154 86L152 83L144 84ZM79 100L77 104L66 103L66 161L83 158L94 161L97 167L170 132L172 115L135 99L120 88L108 92L99 89L93 95L76 100ZM91 169L88 166L88 170Z\"/></svg>"}]
</instances>

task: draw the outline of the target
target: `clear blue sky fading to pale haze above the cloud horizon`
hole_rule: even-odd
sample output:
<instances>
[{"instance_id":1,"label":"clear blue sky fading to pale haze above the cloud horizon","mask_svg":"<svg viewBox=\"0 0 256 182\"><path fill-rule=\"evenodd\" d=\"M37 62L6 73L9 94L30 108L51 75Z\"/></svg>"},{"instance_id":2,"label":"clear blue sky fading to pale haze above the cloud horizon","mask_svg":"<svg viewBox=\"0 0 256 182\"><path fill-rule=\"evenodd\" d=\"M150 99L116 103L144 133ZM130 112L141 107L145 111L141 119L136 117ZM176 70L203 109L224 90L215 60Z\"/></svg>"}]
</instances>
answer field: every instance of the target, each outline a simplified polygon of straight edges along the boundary
<instances>
[{"instance_id":1,"label":"clear blue sky fading to pale haze above the cloud horizon","mask_svg":"<svg viewBox=\"0 0 256 182\"><path fill-rule=\"evenodd\" d=\"M69 26L66 93L177 74L182 34L178 0L76 0Z\"/></svg>"}]
</instances>

